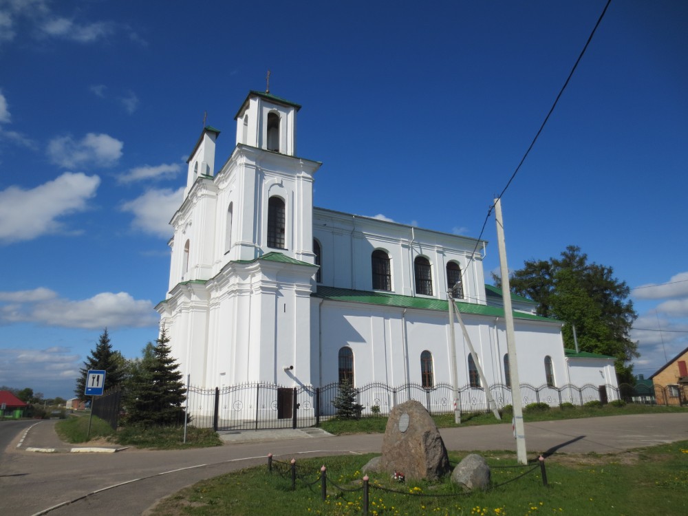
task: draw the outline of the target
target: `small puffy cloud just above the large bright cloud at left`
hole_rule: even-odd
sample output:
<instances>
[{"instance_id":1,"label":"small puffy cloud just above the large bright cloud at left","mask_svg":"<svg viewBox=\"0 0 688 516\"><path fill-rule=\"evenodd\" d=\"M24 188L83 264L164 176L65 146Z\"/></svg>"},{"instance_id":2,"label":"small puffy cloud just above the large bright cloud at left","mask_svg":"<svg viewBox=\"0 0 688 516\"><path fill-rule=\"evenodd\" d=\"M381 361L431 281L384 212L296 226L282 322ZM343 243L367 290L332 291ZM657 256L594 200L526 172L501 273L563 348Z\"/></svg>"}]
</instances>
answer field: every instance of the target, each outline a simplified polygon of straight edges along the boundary
<instances>
[{"instance_id":1,"label":"small puffy cloud just above the large bright cloud at left","mask_svg":"<svg viewBox=\"0 0 688 516\"><path fill-rule=\"evenodd\" d=\"M122 157L124 143L107 134L88 133L81 140L60 136L50 140L47 153L55 164L65 169L78 166L112 166Z\"/></svg>"}]
</instances>

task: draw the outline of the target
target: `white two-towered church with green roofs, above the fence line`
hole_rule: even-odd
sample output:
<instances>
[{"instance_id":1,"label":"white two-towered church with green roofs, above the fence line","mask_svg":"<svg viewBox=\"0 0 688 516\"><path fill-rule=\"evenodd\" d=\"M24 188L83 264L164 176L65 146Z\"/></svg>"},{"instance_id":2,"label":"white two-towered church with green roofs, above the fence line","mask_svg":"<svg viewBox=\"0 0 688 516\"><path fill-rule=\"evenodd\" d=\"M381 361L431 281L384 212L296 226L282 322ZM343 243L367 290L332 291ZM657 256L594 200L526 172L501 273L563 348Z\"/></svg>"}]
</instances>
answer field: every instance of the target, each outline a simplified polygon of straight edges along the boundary
<instances>
[{"instance_id":1,"label":"white two-towered church with green roofs, above the fence line","mask_svg":"<svg viewBox=\"0 0 688 516\"><path fill-rule=\"evenodd\" d=\"M475 356L458 331L458 383L478 387L479 363L487 383L508 385L486 241L316 208L321 163L297 154L300 108L252 91L224 164L216 169L213 127L191 151L171 219L169 292L156 307L184 375L205 387L451 383L447 291L460 283ZM612 357L565 350L561 321L523 297L512 303L521 383L617 387Z\"/></svg>"}]
</instances>

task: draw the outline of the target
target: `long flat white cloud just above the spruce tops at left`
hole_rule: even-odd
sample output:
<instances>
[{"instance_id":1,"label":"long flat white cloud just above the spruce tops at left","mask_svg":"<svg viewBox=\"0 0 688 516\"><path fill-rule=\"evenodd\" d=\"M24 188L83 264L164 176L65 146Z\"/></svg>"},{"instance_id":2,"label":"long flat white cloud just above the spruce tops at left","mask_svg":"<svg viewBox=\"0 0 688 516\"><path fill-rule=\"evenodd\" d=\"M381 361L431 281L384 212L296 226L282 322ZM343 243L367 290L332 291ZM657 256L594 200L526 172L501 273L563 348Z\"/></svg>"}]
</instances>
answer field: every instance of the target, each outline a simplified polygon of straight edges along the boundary
<instances>
[{"instance_id":1,"label":"long flat white cloud just above the spruce tops at left","mask_svg":"<svg viewBox=\"0 0 688 516\"><path fill-rule=\"evenodd\" d=\"M101 292L81 301L61 299L47 288L0 293L0 322L67 328L148 327L158 316L149 300L127 292Z\"/></svg>"}]
</instances>

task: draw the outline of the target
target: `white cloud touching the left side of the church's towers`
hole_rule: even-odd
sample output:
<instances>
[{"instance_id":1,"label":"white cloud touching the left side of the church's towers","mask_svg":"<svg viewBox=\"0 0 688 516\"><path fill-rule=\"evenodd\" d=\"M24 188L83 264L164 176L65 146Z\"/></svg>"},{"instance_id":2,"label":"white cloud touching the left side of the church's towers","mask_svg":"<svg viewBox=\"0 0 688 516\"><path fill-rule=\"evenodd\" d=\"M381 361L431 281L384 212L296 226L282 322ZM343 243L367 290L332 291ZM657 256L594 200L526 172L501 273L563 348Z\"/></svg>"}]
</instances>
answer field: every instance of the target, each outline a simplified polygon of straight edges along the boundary
<instances>
[{"instance_id":1,"label":"white cloud touching the left side of the church's towers","mask_svg":"<svg viewBox=\"0 0 688 516\"><path fill-rule=\"evenodd\" d=\"M182 202L182 195L184 195L183 187L178 190L151 189L140 197L123 204L122 211L133 213L134 219L131 222L133 228L168 238L172 233L169 222Z\"/></svg>"}]
</instances>

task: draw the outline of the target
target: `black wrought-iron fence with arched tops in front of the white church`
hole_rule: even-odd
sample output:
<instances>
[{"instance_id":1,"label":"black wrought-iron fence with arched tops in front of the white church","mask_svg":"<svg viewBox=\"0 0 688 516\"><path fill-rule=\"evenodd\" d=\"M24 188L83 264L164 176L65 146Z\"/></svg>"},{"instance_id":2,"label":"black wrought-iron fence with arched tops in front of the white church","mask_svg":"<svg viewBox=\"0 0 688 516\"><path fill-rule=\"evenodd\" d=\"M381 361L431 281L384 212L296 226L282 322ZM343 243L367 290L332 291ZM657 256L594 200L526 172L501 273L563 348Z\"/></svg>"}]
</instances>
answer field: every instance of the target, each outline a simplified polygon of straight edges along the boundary
<instances>
[{"instance_id":1,"label":"black wrought-iron fence with arched tops in front of the white church","mask_svg":"<svg viewBox=\"0 0 688 516\"><path fill-rule=\"evenodd\" d=\"M507 385L491 385L489 391L499 409L511 405L511 389ZM336 415L332 402L338 394L338 383L323 387L283 387L272 383L246 383L222 389L189 387L187 408L191 424L196 427L225 431L305 428L317 426L323 418ZM623 386L614 385L521 385L524 405L544 402L558 407L564 402L573 405L585 405L590 401L606 403L624 399L625 394L628 391ZM489 410L486 391L482 387L464 385L458 389L458 395L458 408L462 412ZM433 415L454 410L453 389L447 383L429 389L416 383L400 387L368 383L356 387L356 402L363 406L362 416L387 415L395 405L407 400L422 403Z\"/></svg>"}]
</instances>

